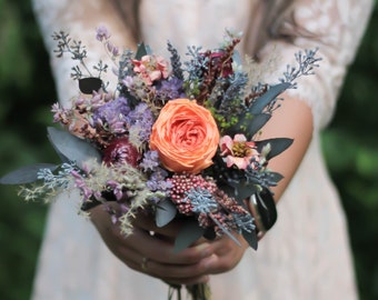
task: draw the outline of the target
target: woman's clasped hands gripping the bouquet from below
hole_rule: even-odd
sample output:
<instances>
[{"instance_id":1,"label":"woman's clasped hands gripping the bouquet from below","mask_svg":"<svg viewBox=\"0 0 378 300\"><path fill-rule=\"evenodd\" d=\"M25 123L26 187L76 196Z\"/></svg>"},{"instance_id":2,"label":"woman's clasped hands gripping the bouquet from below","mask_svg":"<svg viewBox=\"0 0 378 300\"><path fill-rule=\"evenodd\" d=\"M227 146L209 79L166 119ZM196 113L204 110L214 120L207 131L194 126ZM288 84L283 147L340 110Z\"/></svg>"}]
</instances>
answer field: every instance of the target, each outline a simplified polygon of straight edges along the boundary
<instances>
[{"instance_id":1,"label":"woman's clasped hands gripping the bouquet from below","mask_svg":"<svg viewBox=\"0 0 378 300\"><path fill-rule=\"evenodd\" d=\"M248 248L241 237L237 237L242 244L240 247L225 236L215 241L200 239L193 246L175 252L179 221L158 228L151 218L138 216L133 233L125 237L119 226L111 222L103 206L91 210L91 220L110 251L129 268L175 284L207 282L209 274L236 267Z\"/></svg>"}]
</instances>

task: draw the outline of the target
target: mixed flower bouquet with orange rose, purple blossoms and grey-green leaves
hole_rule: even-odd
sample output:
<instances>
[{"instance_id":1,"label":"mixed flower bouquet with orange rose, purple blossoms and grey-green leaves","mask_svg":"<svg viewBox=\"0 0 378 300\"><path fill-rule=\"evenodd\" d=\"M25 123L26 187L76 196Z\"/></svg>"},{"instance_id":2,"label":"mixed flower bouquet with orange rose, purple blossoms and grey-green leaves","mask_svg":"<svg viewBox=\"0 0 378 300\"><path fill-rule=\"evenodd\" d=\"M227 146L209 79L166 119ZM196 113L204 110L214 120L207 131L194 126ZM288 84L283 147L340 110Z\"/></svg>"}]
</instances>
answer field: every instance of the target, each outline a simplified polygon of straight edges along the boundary
<instances>
[{"instance_id":1,"label":"mixed flower bouquet with orange rose, purple blossoms and grey-green leaves","mask_svg":"<svg viewBox=\"0 0 378 300\"><path fill-rule=\"evenodd\" d=\"M271 187L282 176L269 160L292 142L259 133L284 100L280 93L312 73L316 50L297 53L298 64L267 84L251 82L253 64L242 64L236 51L241 37L229 31L217 49L188 47L186 60L169 41L167 60L143 43L120 51L105 27L96 38L115 64L115 91L101 80L108 64L99 61L91 71L81 41L56 32L57 56L78 61L71 77L81 91L71 108L52 106L60 127L48 128L48 137L62 162L23 167L0 182L20 184L26 200L79 189L81 211L103 203L125 236L138 213L158 227L185 218L176 251L201 237L227 234L239 244L235 233L257 249L258 233L277 219ZM203 284L188 289L193 299L209 298Z\"/></svg>"}]
</instances>

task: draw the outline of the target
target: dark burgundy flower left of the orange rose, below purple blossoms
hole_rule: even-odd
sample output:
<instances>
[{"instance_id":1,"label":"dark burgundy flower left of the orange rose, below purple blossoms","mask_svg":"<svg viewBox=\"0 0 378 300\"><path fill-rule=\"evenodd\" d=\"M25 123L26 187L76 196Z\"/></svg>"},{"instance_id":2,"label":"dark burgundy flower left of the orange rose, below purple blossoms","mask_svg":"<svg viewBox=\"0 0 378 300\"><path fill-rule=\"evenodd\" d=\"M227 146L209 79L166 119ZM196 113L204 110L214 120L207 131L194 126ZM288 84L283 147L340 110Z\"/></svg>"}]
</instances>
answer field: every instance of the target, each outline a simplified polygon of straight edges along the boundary
<instances>
[{"instance_id":1,"label":"dark burgundy flower left of the orange rose, below purple blossoms","mask_svg":"<svg viewBox=\"0 0 378 300\"><path fill-rule=\"evenodd\" d=\"M137 167L140 158L138 149L129 142L128 138L112 140L103 151L103 162L107 166L128 163Z\"/></svg>"}]
</instances>

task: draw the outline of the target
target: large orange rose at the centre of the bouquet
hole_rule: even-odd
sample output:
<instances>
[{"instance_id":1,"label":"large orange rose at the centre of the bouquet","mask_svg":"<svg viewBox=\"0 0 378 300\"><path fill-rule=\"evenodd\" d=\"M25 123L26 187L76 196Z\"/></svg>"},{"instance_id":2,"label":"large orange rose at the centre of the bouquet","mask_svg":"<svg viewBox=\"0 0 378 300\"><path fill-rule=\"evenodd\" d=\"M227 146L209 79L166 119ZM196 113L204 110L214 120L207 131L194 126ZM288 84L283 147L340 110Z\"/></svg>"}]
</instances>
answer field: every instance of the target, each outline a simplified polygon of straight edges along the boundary
<instances>
[{"instance_id":1,"label":"large orange rose at the centre of the bouquet","mask_svg":"<svg viewBox=\"0 0 378 300\"><path fill-rule=\"evenodd\" d=\"M210 111L188 99L170 100L152 127L151 150L165 168L199 173L212 164L219 132Z\"/></svg>"}]
</instances>

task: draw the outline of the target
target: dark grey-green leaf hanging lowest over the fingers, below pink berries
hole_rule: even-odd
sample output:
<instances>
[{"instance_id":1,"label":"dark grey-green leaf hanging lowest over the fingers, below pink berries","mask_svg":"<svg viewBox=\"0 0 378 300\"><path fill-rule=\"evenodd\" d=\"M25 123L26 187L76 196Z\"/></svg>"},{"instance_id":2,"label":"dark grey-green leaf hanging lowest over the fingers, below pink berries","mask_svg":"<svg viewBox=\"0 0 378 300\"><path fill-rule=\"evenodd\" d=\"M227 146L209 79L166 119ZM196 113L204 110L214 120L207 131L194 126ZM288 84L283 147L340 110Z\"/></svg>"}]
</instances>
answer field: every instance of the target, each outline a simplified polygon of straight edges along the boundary
<instances>
[{"instance_id":1,"label":"dark grey-green leaf hanging lowest over the fingers, below pink berries","mask_svg":"<svg viewBox=\"0 0 378 300\"><path fill-rule=\"evenodd\" d=\"M186 220L175 240L175 252L187 249L190 244L203 236L205 229L196 220Z\"/></svg>"}]
</instances>

